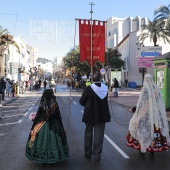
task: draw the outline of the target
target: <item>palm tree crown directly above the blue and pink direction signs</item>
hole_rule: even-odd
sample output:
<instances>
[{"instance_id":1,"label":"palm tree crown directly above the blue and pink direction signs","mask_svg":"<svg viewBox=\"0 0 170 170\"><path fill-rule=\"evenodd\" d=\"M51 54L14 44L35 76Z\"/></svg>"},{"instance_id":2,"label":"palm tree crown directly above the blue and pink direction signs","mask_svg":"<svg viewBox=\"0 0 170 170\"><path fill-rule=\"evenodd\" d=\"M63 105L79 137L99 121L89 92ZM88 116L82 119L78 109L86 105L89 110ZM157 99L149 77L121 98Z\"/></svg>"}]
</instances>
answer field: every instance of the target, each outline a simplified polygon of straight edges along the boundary
<instances>
[{"instance_id":1,"label":"palm tree crown directly above the blue and pink direction signs","mask_svg":"<svg viewBox=\"0 0 170 170\"><path fill-rule=\"evenodd\" d=\"M164 43L170 43L170 34L168 30L163 29L164 23L159 19L154 19L150 21L148 19L148 24L142 26L142 33L137 38L137 43L143 43L146 38L150 38L150 41L157 46L157 40L162 39Z\"/></svg>"}]
</instances>

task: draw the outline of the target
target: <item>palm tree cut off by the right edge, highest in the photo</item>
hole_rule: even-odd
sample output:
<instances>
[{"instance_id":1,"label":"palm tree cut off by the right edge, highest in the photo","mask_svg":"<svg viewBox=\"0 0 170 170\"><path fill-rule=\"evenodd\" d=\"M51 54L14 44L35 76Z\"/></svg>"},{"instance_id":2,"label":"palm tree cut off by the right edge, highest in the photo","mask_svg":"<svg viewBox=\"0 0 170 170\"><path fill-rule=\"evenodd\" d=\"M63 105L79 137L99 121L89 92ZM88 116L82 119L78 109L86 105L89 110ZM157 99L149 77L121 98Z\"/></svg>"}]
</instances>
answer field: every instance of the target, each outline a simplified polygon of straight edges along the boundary
<instances>
[{"instance_id":1,"label":"palm tree cut off by the right edge, highest in the photo","mask_svg":"<svg viewBox=\"0 0 170 170\"><path fill-rule=\"evenodd\" d=\"M170 26L170 4L168 6L161 5L155 9L154 16L156 20L160 20L164 24L164 29L169 30Z\"/></svg>"}]
</instances>

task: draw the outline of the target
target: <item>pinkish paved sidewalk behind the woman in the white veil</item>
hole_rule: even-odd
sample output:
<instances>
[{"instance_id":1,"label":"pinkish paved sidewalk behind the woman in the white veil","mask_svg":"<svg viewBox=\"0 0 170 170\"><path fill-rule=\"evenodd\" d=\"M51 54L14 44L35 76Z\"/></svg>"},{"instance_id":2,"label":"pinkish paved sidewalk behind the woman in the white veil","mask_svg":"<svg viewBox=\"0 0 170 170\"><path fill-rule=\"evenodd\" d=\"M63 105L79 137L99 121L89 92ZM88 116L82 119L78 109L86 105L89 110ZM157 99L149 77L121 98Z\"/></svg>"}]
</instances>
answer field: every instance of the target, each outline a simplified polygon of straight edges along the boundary
<instances>
[{"instance_id":1,"label":"pinkish paved sidewalk behind the woman in the white veil","mask_svg":"<svg viewBox=\"0 0 170 170\"><path fill-rule=\"evenodd\" d=\"M119 97L112 97L111 101L124 105L126 107L136 106L139 98L140 90L133 88L120 88ZM170 121L170 112L167 112L168 121Z\"/></svg>"}]
</instances>

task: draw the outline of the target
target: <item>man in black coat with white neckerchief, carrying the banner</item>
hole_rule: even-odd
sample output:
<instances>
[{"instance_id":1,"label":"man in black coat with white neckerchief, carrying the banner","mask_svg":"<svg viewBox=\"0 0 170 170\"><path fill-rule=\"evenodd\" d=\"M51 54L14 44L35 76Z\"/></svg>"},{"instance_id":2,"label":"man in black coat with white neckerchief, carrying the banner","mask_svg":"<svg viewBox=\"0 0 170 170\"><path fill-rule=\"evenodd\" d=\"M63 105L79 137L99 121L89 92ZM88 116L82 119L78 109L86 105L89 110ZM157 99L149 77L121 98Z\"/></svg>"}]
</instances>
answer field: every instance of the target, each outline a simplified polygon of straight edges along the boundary
<instances>
[{"instance_id":1,"label":"man in black coat with white neckerchief, carrying the banner","mask_svg":"<svg viewBox=\"0 0 170 170\"><path fill-rule=\"evenodd\" d=\"M100 80L101 75L95 73L94 83L84 89L79 100L80 104L84 106L82 122L86 124L84 156L91 159L93 154L96 161L100 161L101 158L105 123L110 122L108 87Z\"/></svg>"}]
</instances>

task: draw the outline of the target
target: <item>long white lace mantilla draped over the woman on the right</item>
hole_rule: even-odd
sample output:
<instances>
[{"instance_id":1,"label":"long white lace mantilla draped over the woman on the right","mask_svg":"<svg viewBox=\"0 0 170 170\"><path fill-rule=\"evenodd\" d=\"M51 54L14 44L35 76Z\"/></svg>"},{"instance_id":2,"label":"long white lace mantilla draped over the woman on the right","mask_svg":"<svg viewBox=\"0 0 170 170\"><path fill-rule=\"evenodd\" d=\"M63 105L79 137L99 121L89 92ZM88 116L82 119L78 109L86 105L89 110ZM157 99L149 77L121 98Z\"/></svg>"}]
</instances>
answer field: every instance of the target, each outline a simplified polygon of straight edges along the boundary
<instances>
[{"instance_id":1,"label":"long white lace mantilla draped over the woman on the right","mask_svg":"<svg viewBox=\"0 0 170 170\"><path fill-rule=\"evenodd\" d=\"M130 134L141 144L141 152L146 152L154 139L154 125L169 142L167 115L160 90L152 77L146 75L136 112L129 124Z\"/></svg>"}]
</instances>

